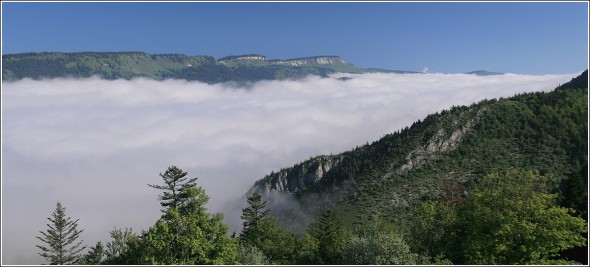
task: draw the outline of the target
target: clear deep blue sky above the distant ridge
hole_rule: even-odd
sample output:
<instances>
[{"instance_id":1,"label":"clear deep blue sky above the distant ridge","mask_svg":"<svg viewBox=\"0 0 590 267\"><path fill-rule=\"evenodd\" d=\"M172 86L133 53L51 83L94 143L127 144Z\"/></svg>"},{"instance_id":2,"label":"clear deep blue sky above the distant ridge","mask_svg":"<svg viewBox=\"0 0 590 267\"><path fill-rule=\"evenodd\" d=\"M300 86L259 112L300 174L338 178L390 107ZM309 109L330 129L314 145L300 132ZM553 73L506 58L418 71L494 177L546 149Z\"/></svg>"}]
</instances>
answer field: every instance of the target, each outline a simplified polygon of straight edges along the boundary
<instances>
[{"instance_id":1,"label":"clear deep blue sky above the distant ridge","mask_svg":"<svg viewBox=\"0 0 590 267\"><path fill-rule=\"evenodd\" d=\"M142 51L359 67L573 73L588 67L588 4L2 2L2 54Z\"/></svg>"}]
</instances>

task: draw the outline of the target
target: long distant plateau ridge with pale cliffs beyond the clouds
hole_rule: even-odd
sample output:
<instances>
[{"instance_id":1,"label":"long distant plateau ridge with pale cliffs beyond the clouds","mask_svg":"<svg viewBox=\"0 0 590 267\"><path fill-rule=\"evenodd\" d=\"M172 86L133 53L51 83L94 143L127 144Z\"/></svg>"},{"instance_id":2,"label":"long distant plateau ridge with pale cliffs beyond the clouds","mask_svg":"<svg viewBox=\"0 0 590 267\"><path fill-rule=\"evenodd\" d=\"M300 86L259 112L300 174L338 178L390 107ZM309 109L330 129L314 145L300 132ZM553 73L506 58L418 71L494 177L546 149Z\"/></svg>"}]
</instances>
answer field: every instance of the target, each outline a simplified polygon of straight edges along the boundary
<instances>
[{"instance_id":1,"label":"long distant plateau ridge with pale cliffs beyond the clouds","mask_svg":"<svg viewBox=\"0 0 590 267\"><path fill-rule=\"evenodd\" d=\"M111 80L145 77L155 80L197 80L206 83L298 79L307 75L327 77L336 72L413 73L362 69L338 56L268 59L263 55L249 54L215 59L211 56L143 52L9 54L2 56L2 67L3 80L85 78L98 75Z\"/></svg>"}]
</instances>

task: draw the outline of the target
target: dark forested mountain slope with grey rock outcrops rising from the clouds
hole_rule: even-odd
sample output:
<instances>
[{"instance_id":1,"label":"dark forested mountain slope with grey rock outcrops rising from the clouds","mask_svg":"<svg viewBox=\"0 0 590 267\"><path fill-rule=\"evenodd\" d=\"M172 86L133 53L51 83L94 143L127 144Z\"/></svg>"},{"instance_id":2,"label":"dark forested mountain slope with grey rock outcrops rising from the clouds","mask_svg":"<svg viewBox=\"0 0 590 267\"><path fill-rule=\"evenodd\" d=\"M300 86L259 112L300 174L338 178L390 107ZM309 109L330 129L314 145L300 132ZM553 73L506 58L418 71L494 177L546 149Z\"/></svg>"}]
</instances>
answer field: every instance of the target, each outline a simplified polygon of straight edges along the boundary
<instances>
[{"instance_id":1,"label":"dark forested mountain slope with grey rock outcrops rising from the clouds","mask_svg":"<svg viewBox=\"0 0 590 267\"><path fill-rule=\"evenodd\" d=\"M326 208L349 226L367 218L404 226L420 203L460 203L486 174L511 167L551 173L561 181L556 192L575 198L568 181L588 181L587 84L586 71L552 92L443 110L370 144L272 172L247 194L265 196L298 233Z\"/></svg>"}]
</instances>

